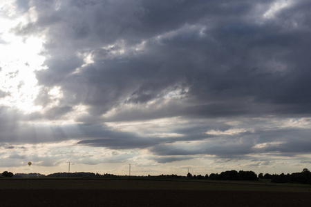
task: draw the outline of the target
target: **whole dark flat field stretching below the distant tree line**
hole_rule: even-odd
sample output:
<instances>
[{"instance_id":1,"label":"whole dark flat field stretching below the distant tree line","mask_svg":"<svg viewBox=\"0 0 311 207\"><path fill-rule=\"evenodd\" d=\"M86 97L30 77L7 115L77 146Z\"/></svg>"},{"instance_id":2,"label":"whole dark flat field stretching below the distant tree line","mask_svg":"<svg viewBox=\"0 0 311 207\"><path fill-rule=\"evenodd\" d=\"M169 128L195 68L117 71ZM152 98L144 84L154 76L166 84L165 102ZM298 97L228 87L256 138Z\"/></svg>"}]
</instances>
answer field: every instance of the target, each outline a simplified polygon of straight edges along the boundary
<instances>
[{"instance_id":1,"label":"whole dark flat field stretching below the distant tree line","mask_svg":"<svg viewBox=\"0 0 311 207\"><path fill-rule=\"evenodd\" d=\"M0 179L1 206L311 206L308 185L143 179Z\"/></svg>"}]
</instances>

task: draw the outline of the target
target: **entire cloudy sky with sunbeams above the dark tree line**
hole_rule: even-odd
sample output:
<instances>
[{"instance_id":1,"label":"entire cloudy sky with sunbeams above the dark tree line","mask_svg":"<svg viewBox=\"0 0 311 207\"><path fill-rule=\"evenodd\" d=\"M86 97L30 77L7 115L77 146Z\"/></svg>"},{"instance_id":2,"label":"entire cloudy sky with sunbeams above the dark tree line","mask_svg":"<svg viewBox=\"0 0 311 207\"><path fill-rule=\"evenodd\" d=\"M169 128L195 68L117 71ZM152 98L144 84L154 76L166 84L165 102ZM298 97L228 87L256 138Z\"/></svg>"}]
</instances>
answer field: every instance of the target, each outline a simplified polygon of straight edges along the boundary
<instances>
[{"instance_id":1,"label":"entire cloudy sky with sunbeams above the dark tree line","mask_svg":"<svg viewBox=\"0 0 311 207\"><path fill-rule=\"evenodd\" d=\"M2 0L0 171L311 168L310 8Z\"/></svg>"}]
</instances>

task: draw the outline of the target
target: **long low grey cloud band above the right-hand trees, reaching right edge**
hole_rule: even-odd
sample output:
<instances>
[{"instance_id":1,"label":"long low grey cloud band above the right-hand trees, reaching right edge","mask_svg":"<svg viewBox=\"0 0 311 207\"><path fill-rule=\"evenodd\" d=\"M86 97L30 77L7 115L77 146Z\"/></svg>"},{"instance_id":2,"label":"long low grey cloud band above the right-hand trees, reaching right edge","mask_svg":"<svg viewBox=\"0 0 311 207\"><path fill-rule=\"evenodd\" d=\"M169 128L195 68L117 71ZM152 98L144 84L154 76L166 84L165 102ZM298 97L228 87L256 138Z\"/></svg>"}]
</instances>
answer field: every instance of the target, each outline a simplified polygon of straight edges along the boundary
<instances>
[{"instance_id":1,"label":"long low grey cloud band above the right-hand trees, reaching right edge","mask_svg":"<svg viewBox=\"0 0 311 207\"><path fill-rule=\"evenodd\" d=\"M310 133L310 129L299 128L246 131L216 135L197 144L159 144L150 150L155 155L216 155L227 159L254 159L256 153L294 157L310 152Z\"/></svg>"}]
</instances>

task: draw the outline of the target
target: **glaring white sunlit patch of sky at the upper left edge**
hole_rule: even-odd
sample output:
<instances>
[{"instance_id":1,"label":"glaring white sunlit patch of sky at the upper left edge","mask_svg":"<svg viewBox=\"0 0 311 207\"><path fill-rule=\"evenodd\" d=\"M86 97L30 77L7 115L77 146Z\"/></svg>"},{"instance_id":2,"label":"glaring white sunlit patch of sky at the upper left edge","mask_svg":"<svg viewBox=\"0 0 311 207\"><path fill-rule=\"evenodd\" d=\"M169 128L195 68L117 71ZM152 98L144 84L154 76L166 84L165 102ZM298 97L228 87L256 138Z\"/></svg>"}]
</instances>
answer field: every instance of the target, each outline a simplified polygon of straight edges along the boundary
<instances>
[{"instance_id":1,"label":"glaring white sunlit patch of sky at the upper left edge","mask_svg":"<svg viewBox=\"0 0 311 207\"><path fill-rule=\"evenodd\" d=\"M17 37L12 32L17 24L35 20L34 10L19 17L13 2L4 1L0 5L0 90L6 94L0 99L0 104L23 112L33 112L41 109L34 105L39 92L34 72L44 69L45 58L39 55L44 39Z\"/></svg>"}]
</instances>

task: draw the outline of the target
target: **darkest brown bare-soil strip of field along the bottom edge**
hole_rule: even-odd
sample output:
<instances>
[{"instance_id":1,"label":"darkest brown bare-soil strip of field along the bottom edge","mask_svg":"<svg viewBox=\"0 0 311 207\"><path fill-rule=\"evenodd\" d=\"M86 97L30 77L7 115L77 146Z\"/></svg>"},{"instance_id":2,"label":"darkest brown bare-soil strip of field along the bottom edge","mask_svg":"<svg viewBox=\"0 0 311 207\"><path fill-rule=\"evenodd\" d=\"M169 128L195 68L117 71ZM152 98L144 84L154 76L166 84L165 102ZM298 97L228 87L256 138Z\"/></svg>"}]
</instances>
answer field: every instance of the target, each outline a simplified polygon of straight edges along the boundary
<instances>
[{"instance_id":1,"label":"darkest brown bare-soil strip of field along the bottom edge","mask_svg":"<svg viewBox=\"0 0 311 207\"><path fill-rule=\"evenodd\" d=\"M1 190L1 206L311 206L310 193L211 190Z\"/></svg>"}]
</instances>

